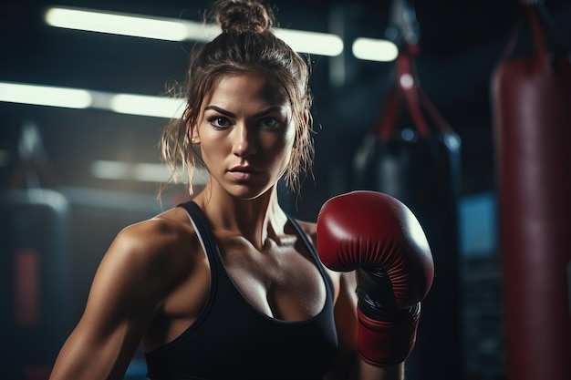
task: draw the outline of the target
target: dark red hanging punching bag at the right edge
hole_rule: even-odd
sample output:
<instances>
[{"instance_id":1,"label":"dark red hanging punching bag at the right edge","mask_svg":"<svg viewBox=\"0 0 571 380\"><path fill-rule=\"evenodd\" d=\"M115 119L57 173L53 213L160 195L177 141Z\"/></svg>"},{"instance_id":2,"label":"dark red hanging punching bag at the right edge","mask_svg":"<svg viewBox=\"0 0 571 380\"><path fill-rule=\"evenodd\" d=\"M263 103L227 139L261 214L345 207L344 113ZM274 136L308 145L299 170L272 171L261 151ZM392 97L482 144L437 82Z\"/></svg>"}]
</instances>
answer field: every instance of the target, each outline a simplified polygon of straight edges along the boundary
<instances>
[{"instance_id":1,"label":"dark red hanging punching bag at the right edge","mask_svg":"<svg viewBox=\"0 0 571 380\"><path fill-rule=\"evenodd\" d=\"M523 8L535 51L514 57L517 29L492 77L506 356L510 379L563 380L571 379L570 51L551 44L556 30L541 5Z\"/></svg>"}]
</instances>

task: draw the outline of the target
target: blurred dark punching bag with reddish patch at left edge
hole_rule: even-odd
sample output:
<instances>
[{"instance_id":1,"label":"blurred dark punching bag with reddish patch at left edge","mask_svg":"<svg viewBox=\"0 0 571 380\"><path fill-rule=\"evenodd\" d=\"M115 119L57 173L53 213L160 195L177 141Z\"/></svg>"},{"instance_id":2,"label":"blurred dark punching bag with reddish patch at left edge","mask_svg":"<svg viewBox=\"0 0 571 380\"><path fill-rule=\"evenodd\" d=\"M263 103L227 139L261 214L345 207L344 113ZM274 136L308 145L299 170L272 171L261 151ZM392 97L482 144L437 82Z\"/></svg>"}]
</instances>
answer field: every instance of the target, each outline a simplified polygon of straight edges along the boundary
<instances>
[{"instance_id":1,"label":"blurred dark punching bag with reddish patch at left edge","mask_svg":"<svg viewBox=\"0 0 571 380\"><path fill-rule=\"evenodd\" d=\"M9 348L0 378L47 379L73 328L68 206L52 186L31 123L23 128L19 155L0 205L2 264L8 268L2 335Z\"/></svg>"}]
</instances>

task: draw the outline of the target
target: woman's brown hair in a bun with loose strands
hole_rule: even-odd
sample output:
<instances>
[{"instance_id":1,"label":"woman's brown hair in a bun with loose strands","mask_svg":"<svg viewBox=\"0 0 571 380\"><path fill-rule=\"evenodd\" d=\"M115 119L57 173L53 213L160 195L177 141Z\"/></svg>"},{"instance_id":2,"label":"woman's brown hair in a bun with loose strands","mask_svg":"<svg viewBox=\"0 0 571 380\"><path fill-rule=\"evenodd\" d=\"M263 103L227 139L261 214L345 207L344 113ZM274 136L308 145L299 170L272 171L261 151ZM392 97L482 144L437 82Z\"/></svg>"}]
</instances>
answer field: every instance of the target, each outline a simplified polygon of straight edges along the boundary
<instances>
[{"instance_id":1,"label":"woman's brown hair in a bun with loose strands","mask_svg":"<svg viewBox=\"0 0 571 380\"><path fill-rule=\"evenodd\" d=\"M217 1L210 18L222 27L222 33L192 54L184 89L185 118L172 119L162 133L162 157L172 169L171 180L177 165L182 164L192 194L192 178L200 157L192 149L187 125L198 121L202 99L216 79L255 71L281 85L291 102L296 137L285 183L291 190L299 190L300 173L310 170L314 154L309 64L272 33L275 17L259 1Z\"/></svg>"}]
</instances>

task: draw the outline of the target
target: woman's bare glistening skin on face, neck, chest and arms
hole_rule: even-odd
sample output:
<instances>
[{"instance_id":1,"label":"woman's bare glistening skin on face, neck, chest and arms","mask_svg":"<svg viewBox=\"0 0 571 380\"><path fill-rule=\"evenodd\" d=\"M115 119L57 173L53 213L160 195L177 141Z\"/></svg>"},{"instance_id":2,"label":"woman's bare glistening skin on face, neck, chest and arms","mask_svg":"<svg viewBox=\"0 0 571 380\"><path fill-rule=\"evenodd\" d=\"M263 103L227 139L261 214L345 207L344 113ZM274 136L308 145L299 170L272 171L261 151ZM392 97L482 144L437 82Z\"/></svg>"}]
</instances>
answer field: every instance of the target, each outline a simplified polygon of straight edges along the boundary
<instances>
[{"instance_id":1,"label":"woman's bare glistening skin on face, neck, chest and arms","mask_svg":"<svg viewBox=\"0 0 571 380\"><path fill-rule=\"evenodd\" d=\"M283 91L255 73L220 77L188 133L210 172L194 201L211 222L238 289L274 318L299 321L319 313L323 279L277 201L276 183L295 141ZM299 224L315 245L316 224ZM401 379L403 365L380 368L357 358L353 273L327 273L339 344L327 380ZM125 228L99 265L50 379L122 379L140 343L149 352L193 323L209 284L209 264L185 211L171 209Z\"/></svg>"}]
</instances>

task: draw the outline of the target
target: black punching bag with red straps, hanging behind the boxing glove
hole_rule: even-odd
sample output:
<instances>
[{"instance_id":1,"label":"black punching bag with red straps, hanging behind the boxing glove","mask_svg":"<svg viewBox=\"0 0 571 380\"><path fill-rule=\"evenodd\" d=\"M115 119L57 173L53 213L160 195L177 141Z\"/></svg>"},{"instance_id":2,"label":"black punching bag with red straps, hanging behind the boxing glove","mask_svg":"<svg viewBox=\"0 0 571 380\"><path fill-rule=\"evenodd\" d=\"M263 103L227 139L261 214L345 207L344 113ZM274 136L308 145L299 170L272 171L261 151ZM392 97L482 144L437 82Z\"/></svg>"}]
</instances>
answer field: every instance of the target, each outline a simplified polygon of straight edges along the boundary
<instances>
[{"instance_id":1,"label":"black punching bag with red straps, hanging behind the boxing glove","mask_svg":"<svg viewBox=\"0 0 571 380\"><path fill-rule=\"evenodd\" d=\"M420 90L414 50L408 48L397 58L398 83L378 125L356 153L355 186L407 204L431 245L435 277L422 303L407 378L456 380L462 367L457 222L461 141ZM410 119L406 127L399 121L401 103Z\"/></svg>"}]
</instances>

